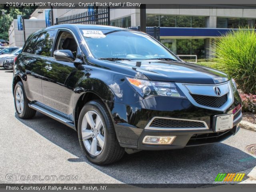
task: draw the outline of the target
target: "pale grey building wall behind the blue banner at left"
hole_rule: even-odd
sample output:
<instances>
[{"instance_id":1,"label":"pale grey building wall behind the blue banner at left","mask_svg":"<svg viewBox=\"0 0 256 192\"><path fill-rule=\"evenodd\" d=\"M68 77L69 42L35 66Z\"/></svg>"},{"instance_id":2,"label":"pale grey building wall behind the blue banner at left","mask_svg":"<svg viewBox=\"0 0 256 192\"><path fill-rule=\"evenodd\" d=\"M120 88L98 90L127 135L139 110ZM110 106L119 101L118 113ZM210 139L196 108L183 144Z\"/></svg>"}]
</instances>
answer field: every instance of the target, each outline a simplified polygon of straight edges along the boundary
<instances>
[{"instance_id":1,"label":"pale grey building wall behind the blue banner at left","mask_svg":"<svg viewBox=\"0 0 256 192\"><path fill-rule=\"evenodd\" d=\"M46 26L45 20L39 20L39 19L37 20L25 19L24 25L25 25L26 39L33 32L36 32L37 30L45 28ZM24 45L24 32L18 30L18 21L16 19L13 20L9 29L9 44L10 46L18 46L18 47L22 47Z\"/></svg>"}]
</instances>

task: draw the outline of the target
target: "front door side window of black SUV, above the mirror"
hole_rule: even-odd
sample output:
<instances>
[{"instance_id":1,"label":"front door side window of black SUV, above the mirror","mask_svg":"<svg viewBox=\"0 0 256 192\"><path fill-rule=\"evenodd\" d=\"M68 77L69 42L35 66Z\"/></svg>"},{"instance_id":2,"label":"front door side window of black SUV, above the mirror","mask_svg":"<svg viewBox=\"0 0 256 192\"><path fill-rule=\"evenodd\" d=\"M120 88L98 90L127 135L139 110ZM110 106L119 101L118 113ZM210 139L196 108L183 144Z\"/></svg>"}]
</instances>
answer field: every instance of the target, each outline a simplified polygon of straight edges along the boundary
<instances>
[{"instance_id":1,"label":"front door side window of black SUV, above the mirror","mask_svg":"<svg viewBox=\"0 0 256 192\"><path fill-rule=\"evenodd\" d=\"M61 31L58 34L58 41L56 43L55 50L70 50L76 58L78 45L74 36L67 31Z\"/></svg>"}]
</instances>

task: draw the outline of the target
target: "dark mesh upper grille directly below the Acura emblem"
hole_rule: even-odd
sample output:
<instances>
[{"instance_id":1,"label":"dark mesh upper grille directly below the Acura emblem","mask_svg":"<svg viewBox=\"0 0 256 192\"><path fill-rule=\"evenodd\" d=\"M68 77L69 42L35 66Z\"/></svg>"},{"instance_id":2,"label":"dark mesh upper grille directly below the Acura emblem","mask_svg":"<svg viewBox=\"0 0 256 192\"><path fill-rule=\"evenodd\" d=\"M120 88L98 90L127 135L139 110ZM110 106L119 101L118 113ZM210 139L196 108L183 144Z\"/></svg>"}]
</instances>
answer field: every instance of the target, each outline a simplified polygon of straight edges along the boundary
<instances>
[{"instance_id":1,"label":"dark mesh upper grille directly below the Acura emblem","mask_svg":"<svg viewBox=\"0 0 256 192\"><path fill-rule=\"evenodd\" d=\"M227 94L220 97L196 95L196 94L191 94L191 96L198 104L208 106L208 107L214 107L214 108L221 107L228 100Z\"/></svg>"}]
</instances>

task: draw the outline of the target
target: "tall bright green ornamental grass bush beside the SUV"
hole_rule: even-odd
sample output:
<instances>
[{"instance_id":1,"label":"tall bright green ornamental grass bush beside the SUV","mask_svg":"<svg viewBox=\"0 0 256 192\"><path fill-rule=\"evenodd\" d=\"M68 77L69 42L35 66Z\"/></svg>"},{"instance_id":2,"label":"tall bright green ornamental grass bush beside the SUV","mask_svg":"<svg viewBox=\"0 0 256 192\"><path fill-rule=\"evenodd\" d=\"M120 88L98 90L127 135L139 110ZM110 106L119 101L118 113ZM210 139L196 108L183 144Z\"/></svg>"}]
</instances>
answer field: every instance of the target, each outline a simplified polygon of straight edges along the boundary
<instances>
[{"instance_id":1,"label":"tall bright green ornamental grass bush beside the SUV","mask_svg":"<svg viewBox=\"0 0 256 192\"><path fill-rule=\"evenodd\" d=\"M256 32L254 29L232 30L216 39L216 62L236 80L244 93L256 94Z\"/></svg>"}]
</instances>

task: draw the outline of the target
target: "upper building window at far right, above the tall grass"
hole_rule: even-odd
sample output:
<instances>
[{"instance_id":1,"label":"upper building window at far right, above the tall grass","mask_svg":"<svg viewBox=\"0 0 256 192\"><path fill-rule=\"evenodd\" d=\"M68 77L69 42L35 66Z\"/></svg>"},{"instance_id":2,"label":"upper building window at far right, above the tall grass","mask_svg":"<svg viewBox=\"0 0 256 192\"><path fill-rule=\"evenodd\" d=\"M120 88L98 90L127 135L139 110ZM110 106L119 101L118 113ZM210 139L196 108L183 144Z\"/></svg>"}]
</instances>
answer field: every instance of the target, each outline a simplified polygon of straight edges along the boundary
<instances>
[{"instance_id":1,"label":"upper building window at far right, above the tall grass","mask_svg":"<svg viewBox=\"0 0 256 192\"><path fill-rule=\"evenodd\" d=\"M217 17L217 28L255 27L256 19Z\"/></svg>"}]
</instances>

